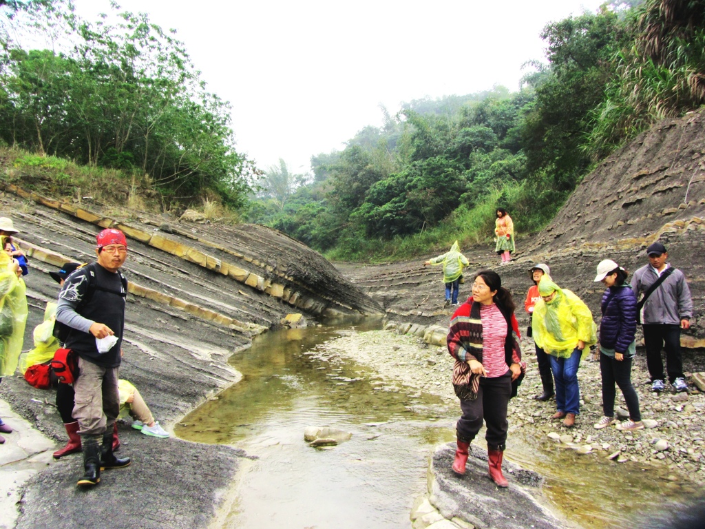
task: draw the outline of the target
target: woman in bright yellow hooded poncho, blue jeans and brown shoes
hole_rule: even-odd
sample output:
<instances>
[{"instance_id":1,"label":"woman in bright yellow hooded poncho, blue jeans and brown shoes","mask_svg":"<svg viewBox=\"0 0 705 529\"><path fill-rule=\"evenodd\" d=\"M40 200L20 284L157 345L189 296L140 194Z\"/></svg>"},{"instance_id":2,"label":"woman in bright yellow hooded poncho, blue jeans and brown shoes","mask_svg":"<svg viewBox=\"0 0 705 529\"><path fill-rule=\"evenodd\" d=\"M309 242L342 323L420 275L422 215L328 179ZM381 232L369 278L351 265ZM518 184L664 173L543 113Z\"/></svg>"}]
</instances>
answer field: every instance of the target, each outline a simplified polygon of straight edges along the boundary
<instances>
[{"instance_id":1,"label":"woman in bright yellow hooded poncho, blue jeans and brown shoes","mask_svg":"<svg viewBox=\"0 0 705 529\"><path fill-rule=\"evenodd\" d=\"M534 342L548 353L556 382L556 414L567 427L575 425L580 413L577 370L582 352L597 343L592 312L569 290L559 288L549 276L539 281L541 300L534 305Z\"/></svg>"}]
</instances>

